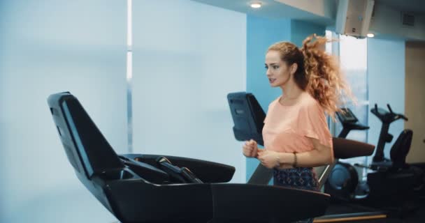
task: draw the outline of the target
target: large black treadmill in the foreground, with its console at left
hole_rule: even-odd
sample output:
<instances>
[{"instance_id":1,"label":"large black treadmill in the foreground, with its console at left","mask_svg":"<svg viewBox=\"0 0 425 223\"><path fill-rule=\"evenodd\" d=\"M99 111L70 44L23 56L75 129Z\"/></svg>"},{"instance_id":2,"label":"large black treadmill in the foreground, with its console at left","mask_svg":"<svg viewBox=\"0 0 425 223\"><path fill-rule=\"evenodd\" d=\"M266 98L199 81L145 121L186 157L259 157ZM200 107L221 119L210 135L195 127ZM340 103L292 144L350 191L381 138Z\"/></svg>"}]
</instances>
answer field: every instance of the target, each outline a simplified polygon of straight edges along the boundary
<instances>
[{"instance_id":1,"label":"large black treadmill in the foreground, with its console at left","mask_svg":"<svg viewBox=\"0 0 425 223\"><path fill-rule=\"evenodd\" d=\"M75 174L122 223L293 222L323 215L329 195L226 183L234 167L166 155L117 155L80 102L56 93L48 105Z\"/></svg>"}]
</instances>

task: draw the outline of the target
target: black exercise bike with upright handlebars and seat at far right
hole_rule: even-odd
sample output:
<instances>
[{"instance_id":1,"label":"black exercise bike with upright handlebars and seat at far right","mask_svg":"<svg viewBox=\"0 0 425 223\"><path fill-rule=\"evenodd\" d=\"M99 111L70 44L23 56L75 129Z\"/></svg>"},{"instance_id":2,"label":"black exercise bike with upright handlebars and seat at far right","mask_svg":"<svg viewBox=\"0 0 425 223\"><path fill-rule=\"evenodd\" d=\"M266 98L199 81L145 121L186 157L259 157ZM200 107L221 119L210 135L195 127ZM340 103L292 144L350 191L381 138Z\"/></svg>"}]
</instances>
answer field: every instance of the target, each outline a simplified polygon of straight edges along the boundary
<instances>
[{"instance_id":1,"label":"black exercise bike with upright handlebars and seat at far right","mask_svg":"<svg viewBox=\"0 0 425 223\"><path fill-rule=\"evenodd\" d=\"M380 138L378 140L376 153L368 174L368 185L373 199L384 197L387 201L403 201L410 198L415 187L423 185L423 172L419 168L410 167L405 162L412 143L412 130L403 130L390 150L390 159L384 157L385 144L391 142L393 136L389 134L389 125L394 121L408 118L403 114L393 112L387 104L388 110L375 107L370 110L372 114L382 121ZM391 195L391 196L389 196Z\"/></svg>"}]
</instances>

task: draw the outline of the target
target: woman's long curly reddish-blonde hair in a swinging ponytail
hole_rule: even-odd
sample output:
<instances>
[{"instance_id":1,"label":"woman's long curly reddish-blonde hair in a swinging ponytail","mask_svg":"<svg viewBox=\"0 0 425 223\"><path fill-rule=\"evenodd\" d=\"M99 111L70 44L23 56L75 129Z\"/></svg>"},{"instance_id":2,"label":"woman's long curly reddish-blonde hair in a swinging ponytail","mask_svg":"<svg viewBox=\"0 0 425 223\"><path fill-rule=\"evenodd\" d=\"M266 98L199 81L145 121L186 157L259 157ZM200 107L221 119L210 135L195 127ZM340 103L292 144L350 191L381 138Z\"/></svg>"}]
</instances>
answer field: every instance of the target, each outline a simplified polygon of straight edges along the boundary
<instances>
[{"instance_id":1,"label":"woman's long curly reddish-blonde hair in a swinging ponytail","mask_svg":"<svg viewBox=\"0 0 425 223\"><path fill-rule=\"evenodd\" d=\"M271 45L268 51L280 52L280 59L289 66L297 64L298 68L294 73L296 84L303 91L310 93L335 121L335 113L341 112L340 106L345 104L347 99L355 102L355 98L338 61L324 52L324 45L330 41L332 40L313 34L303 40L301 49L293 43L280 42Z\"/></svg>"}]
</instances>

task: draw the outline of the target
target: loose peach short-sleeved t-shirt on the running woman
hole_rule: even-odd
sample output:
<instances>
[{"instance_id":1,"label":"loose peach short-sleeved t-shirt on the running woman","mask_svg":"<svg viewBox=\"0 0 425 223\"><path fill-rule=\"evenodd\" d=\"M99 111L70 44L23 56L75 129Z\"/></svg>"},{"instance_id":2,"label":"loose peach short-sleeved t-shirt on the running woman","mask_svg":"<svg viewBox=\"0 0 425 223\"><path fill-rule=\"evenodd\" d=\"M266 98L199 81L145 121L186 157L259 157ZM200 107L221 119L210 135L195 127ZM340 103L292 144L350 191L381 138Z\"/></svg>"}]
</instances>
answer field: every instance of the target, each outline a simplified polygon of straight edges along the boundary
<instances>
[{"instance_id":1,"label":"loose peach short-sleeved t-shirt on the running woman","mask_svg":"<svg viewBox=\"0 0 425 223\"><path fill-rule=\"evenodd\" d=\"M315 98L303 92L294 105L282 105L279 98L268 106L263 128L264 148L284 153L312 151L313 144L307 137L332 147L324 109Z\"/></svg>"}]
</instances>

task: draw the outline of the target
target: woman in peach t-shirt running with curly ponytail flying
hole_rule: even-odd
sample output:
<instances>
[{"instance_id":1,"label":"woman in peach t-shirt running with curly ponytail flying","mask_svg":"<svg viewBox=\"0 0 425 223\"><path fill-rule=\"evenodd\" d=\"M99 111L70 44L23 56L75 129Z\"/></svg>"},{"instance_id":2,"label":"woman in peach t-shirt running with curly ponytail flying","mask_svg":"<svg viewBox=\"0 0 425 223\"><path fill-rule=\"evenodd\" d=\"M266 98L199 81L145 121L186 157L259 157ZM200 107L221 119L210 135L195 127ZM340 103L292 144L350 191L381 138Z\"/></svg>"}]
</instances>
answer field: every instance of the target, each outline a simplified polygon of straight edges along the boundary
<instances>
[{"instance_id":1,"label":"woman in peach t-shirt running with curly ponytail flying","mask_svg":"<svg viewBox=\"0 0 425 223\"><path fill-rule=\"evenodd\" d=\"M257 157L273 169L274 185L317 191L319 183L312 167L333 162L325 112L334 118L340 96L350 95L350 90L336 61L323 51L326 41L313 35L303 41L301 49L280 42L266 53L268 82L280 87L282 95L268 106L264 149L251 139L245 142L243 154Z\"/></svg>"}]
</instances>

